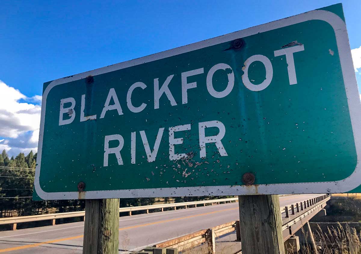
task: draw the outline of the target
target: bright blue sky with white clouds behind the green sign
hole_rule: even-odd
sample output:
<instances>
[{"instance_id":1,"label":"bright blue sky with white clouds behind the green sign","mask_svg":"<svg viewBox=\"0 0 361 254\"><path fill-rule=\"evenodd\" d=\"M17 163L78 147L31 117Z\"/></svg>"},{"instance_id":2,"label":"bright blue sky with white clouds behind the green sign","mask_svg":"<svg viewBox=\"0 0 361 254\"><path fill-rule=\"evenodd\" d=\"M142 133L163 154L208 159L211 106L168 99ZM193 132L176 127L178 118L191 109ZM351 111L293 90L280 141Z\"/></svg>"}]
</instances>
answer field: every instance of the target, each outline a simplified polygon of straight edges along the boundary
<instances>
[{"instance_id":1,"label":"bright blue sky with white clouds behind the green sign","mask_svg":"<svg viewBox=\"0 0 361 254\"><path fill-rule=\"evenodd\" d=\"M38 95L42 94L46 81L339 3L326 0L74 2L1 3L0 99L9 100L14 109L7 118L1 117L4 103L0 102L0 123L3 119L0 149L6 148L10 154L36 150ZM350 46L358 49L360 0L343 1L343 8ZM353 53L361 58L361 48ZM361 60L359 65L356 77L360 86ZM23 113L19 115L19 111ZM11 120L14 117L15 122Z\"/></svg>"}]
</instances>

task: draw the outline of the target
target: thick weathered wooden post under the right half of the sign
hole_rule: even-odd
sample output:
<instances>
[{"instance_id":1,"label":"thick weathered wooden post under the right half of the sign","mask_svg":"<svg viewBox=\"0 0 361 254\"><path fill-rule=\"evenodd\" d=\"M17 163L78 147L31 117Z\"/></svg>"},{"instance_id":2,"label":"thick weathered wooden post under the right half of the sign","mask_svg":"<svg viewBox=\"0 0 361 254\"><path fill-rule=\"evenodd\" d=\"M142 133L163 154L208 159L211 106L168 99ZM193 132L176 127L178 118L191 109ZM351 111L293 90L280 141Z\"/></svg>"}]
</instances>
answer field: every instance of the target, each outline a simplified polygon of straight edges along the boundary
<instances>
[{"instance_id":1,"label":"thick weathered wooden post under the right half of the sign","mask_svg":"<svg viewBox=\"0 0 361 254\"><path fill-rule=\"evenodd\" d=\"M243 254L284 254L278 195L238 196Z\"/></svg>"}]
</instances>

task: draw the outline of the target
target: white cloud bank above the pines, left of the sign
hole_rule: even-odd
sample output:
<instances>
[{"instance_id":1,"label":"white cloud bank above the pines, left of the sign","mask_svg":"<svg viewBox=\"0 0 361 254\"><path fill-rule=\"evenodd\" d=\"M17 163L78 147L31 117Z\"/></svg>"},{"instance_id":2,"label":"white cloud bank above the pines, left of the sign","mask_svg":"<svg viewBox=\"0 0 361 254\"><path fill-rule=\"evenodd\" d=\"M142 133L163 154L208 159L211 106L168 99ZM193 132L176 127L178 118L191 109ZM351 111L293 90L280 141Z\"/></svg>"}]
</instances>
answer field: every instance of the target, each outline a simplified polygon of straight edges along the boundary
<instances>
[{"instance_id":1,"label":"white cloud bank above the pines, left of the sign","mask_svg":"<svg viewBox=\"0 0 361 254\"><path fill-rule=\"evenodd\" d=\"M10 155L37 150L41 99L40 95L28 98L0 81L0 150Z\"/></svg>"}]
</instances>

